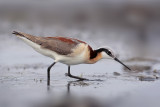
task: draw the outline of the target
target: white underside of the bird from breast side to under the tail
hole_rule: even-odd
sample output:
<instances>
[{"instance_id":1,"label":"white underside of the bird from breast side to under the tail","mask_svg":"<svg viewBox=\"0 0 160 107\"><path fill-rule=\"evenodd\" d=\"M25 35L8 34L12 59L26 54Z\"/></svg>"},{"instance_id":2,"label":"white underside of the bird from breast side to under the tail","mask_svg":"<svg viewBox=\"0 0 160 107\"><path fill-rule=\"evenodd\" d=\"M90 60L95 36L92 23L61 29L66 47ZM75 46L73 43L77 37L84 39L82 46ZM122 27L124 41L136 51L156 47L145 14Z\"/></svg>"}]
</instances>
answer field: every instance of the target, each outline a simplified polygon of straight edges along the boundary
<instances>
[{"instance_id":1,"label":"white underside of the bird from breast side to under the tail","mask_svg":"<svg viewBox=\"0 0 160 107\"><path fill-rule=\"evenodd\" d=\"M84 63L86 60L85 57L85 50L83 52L81 52L81 54L75 55L75 56L66 56L66 55L59 55L54 51L51 51L49 49L44 49L41 48L40 45L26 39L25 37L20 37L25 43L27 43L28 45L30 45L34 50L36 50L37 52L48 56L50 58L53 58L55 60L55 62L61 62L63 64L67 64L67 65L76 65L76 64L81 64ZM87 46L85 46L85 48L87 48Z\"/></svg>"}]
</instances>

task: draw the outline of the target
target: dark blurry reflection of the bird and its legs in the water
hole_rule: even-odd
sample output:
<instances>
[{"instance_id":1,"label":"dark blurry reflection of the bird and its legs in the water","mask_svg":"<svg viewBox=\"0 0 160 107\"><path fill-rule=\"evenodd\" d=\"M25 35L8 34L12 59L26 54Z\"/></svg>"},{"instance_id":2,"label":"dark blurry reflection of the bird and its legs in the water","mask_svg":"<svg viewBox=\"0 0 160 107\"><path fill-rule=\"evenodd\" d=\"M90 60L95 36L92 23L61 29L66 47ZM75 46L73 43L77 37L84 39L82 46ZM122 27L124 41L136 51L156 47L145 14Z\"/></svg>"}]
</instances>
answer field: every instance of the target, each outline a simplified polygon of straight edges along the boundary
<instances>
[{"instance_id":1,"label":"dark blurry reflection of the bird and its legs in the water","mask_svg":"<svg viewBox=\"0 0 160 107\"><path fill-rule=\"evenodd\" d=\"M102 104L92 97L78 97L71 92L72 86L86 85L88 83L84 81L69 81L66 85L66 92L63 97L54 95L53 87L48 86L48 98L45 103L38 107L104 107Z\"/></svg>"}]
</instances>

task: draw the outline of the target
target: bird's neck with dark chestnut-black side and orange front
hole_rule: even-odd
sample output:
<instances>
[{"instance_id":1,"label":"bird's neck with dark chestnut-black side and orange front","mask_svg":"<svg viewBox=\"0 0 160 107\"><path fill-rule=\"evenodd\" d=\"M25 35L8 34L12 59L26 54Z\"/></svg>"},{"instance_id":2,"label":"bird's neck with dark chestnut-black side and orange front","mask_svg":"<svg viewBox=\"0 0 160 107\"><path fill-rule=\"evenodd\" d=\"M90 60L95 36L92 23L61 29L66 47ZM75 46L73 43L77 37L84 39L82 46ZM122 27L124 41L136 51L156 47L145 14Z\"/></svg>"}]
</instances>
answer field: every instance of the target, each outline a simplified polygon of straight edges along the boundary
<instances>
[{"instance_id":1,"label":"bird's neck with dark chestnut-black side and orange front","mask_svg":"<svg viewBox=\"0 0 160 107\"><path fill-rule=\"evenodd\" d=\"M101 53L100 49L90 50L89 63L96 63L100 59L102 59L102 53Z\"/></svg>"}]
</instances>

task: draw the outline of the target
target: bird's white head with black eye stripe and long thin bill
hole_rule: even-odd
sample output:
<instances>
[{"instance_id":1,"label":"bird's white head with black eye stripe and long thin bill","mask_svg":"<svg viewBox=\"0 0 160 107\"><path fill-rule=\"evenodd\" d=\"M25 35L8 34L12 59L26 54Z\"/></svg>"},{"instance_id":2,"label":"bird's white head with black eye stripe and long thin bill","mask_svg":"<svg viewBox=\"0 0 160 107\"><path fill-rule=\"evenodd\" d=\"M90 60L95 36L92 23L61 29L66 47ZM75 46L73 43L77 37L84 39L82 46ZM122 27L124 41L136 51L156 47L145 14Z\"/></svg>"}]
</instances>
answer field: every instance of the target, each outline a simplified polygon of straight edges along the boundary
<instances>
[{"instance_id":1,"label":"bird's white head with black eye stripe and long thin bill","mask_svg":"<svg viewBox=\"0 0 160 107\"><path fill-rule=\"evenodd\" d=\"M103 59L114 59L115 61L119 62L123 66L125 66L127 69L131 70L127 65L122 63L113 53L112 50L107 49L107 48L100 48L97 50L99 53L101 53Z\"/></svg>"}]
</instances>

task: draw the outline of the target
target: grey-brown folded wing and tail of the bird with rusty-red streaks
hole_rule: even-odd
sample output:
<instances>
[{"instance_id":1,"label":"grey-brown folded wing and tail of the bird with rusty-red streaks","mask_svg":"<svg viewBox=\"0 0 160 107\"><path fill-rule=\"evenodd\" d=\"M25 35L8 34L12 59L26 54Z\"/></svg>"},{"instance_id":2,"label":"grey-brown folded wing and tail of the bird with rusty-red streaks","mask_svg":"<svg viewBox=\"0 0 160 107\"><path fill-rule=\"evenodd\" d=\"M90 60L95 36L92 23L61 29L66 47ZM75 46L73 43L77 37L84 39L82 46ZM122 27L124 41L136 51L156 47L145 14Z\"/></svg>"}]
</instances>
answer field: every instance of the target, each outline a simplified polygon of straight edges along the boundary
<instances>
[{"instance_id":1,"label":"grey-brown folded wing and tail of the bird with rusty-red streaks","mask_svg":"<svg viewBox=\"0 0 160 107\"><path fill-rule=\"evenodd\" d=\"M25 37L32 42L41 45L42 48L52 50L60 55L71 54L72 49L79 43L83 43L80 40L65 37L38 37L16 31L14 31L13 34Z\"/></svg>"}]
</instances>

